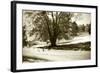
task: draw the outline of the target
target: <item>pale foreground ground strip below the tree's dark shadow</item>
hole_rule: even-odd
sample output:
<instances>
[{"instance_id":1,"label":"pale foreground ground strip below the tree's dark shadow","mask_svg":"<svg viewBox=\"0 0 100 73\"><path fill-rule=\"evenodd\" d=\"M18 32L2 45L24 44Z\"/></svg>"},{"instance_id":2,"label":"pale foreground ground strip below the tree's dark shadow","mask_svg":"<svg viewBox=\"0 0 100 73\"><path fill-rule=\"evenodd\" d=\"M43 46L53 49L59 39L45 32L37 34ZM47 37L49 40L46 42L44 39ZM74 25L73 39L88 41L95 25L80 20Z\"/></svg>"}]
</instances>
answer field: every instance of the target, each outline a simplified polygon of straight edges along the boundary
<instances>
[{"instance_id":1,"label":"pale foreground ground strip below the tree's dark shadow","mask_svg":"<svg viewBox=\"0 0 100 73\"><path fill-rule=\"evenodd\" d=\"M72 50L45 50L42 49L24 49L24 56L37 57L50 61L68 61L68 60L86 60L90 59L90 51L72 51Z\"/></svg>"}]
</instances>

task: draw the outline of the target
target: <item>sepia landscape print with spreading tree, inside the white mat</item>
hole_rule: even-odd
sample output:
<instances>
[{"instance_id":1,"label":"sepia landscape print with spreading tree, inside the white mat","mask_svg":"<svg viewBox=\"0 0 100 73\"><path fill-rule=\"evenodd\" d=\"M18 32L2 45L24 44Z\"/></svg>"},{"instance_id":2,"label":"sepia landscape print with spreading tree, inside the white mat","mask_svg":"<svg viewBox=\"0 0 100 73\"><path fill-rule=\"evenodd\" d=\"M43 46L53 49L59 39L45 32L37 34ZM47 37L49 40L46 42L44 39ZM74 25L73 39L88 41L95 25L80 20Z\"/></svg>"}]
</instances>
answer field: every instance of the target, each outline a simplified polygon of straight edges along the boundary
<instances>
[{"instance_id":1,"label":"sepia landscape print with spreading tree, inside the white mat","mask_svg":"<svg viewBox=\"0 0 100 73\"><path fill-rule=\"evenodd\" d=\"M22 11L23 63L91 59L91 13Z\"/></svg>"}]
</instances>

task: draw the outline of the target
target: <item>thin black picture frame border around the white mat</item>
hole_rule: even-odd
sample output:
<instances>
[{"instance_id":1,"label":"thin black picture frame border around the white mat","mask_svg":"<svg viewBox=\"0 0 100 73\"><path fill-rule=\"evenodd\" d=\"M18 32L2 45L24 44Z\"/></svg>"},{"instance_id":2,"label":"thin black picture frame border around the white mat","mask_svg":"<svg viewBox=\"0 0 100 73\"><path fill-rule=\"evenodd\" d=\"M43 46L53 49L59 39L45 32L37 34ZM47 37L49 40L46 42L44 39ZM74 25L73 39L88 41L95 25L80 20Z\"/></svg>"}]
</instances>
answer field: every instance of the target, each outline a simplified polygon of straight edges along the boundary
<instances>
[{"instance_id":1,"label":"thin black picture frame border around the white mat","mask_svg":"<svg viewBox=\"0 0 100 73\"><path fill-rule=\"evenodd\" d=\"M63 6L63 7L79 7L79 8L90 8L95 9L96 11L96 51L95 51L95 64L93 65L84 65L84 66L70 66L70 67L52 67L52 68L38 68L38 69L20 69L17 70L17 34L16 34L16 28L17 28L17 21L16 21L16 11L17 11L17 4L29 4L29 5L44 5L44 6ZM98 25L98 7L97 6L90 6L90 5L74 5L74 4L58 4L58 3L43 3L43 2L28 2L28 1L11 1L11 71L12 72L23 72L23 71L42 71L42 70L55 70L55 69L73 69L73 68L88 68L88 67L97 67L98 66L98 35L97 35L97 26Z\"/></svg>"}]
</instances>

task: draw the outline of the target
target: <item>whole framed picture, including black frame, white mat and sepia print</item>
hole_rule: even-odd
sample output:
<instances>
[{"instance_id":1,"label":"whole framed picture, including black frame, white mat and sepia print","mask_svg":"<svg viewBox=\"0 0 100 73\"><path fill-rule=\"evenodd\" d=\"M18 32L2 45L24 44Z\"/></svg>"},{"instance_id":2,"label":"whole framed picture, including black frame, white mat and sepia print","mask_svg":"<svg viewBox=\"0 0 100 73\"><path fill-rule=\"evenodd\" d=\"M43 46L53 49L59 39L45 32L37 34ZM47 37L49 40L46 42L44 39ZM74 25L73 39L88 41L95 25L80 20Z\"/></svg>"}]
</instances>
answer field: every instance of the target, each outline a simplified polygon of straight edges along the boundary
<instances>
[{"instance_id":1,"label":"whole framed picture, including black frame, white mat and sepia print","mask_svg":"<svg viewBox=\"0 0 100 73\"><path fill-rule=\"evenodd\" d=\"M97 6L11 2L11 71L97 67Z\"/></svg>"}]
</instances>

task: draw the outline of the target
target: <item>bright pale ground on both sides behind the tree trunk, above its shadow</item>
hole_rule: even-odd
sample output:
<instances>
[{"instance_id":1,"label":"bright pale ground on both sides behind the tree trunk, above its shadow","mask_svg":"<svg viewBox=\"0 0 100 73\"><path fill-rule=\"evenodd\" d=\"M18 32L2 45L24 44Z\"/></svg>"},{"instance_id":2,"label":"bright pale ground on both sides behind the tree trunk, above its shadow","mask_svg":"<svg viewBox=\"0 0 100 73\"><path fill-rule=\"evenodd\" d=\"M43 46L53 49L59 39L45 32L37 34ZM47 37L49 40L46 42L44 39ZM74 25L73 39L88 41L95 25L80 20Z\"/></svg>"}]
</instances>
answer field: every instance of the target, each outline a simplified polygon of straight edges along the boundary
<instances>
[{"instance_id":1,"label":"bright pale ground on both sides behind the tree trunk, above its shadow","mask_svg":"<svg viewBox=\"0 0 100 73\"><path fill-rule=\"evenodd\" d=\"M84 43L84 42L88 42L88 41L91 41L91 36L88 35L87 33L85 33L83 35L76 36L71 40L70 39L69 40L62 39L60 41L57 41L57 45L77 44L77 43ZM50 43L47 44L46 42L39 42L39 41L37 41L37 42L38 42L38 45L34 45L33 48L50 45Z\"/></svg>"}]
</instances>

